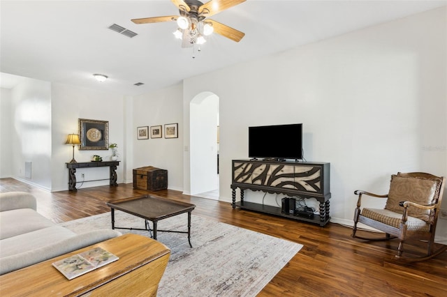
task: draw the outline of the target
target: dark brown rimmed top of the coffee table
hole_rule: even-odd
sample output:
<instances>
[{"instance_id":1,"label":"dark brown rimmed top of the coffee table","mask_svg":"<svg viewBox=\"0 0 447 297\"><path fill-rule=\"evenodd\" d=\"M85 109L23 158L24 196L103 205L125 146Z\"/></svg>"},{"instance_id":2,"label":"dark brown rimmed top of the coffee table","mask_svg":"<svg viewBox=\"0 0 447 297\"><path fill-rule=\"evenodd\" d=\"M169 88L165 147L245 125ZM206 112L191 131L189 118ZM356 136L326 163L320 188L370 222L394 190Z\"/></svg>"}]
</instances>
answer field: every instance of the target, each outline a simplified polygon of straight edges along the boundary
<instances>
[{"instance_id":1,"label":"dark brown rimmed top of the coffee table","mask_svg":"<svg viewBox=\"0 0 447 297\"><path fill-rule=\"evenodd\" d=\"M131 213L146 220L163 220L192 211L196 206L182 201L142 195L125 201L107 202L110 208Z\"/></svg>"}]
</instances>

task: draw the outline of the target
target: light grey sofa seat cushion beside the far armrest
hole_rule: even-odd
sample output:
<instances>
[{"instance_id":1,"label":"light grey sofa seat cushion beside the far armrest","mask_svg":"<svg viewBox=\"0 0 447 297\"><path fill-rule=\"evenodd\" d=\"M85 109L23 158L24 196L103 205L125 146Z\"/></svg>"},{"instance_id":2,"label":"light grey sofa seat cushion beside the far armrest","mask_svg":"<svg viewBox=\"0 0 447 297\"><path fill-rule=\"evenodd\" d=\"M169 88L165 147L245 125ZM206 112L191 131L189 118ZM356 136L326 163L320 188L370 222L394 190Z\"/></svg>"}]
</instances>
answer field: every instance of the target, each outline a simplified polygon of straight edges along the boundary
<instances>
[{"instance_id":1,"label":"light grey sofa seat cushion beside the far armrest","mask_svg":"<svg viewBox=\"0 0 447 297\"><path fill-rule=\"evenodd\" d=\"M31 208L0 212L0 239L54 226L54 222Z\"/></svg>"}]
</instances>

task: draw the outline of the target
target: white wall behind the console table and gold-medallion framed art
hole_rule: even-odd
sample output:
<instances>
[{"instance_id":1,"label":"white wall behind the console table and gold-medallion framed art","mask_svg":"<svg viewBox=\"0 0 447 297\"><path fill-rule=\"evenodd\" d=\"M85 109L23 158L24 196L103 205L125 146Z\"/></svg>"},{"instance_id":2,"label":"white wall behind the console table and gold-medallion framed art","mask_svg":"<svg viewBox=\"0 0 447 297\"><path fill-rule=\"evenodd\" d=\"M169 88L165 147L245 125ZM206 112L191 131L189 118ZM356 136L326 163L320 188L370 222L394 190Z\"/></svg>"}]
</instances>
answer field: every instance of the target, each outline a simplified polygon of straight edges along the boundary
<instances>
[{"instance_id":1,"label":"white wall behind the console table and gold-medallion framed art","mask_svg":"<svg viewBox=\"0 0 447 297\"><path fill-rule=\"evenodd\" d=\"M119 161L117 167L118 180L125 180L124 165L126 161L124 142L124 100L116 93L106 93L92 89L52 84L52 190L68 190L68 169L73 154L72 146L66 145L69 133L78 133L78 119L92 119L109 122L109 143L118 144ZM130 119L131 120L131 119ZM100 155L103 160L110 160L110 150L80 151L75 146L75 160L89 162L92 155ZM80 175L85 174L85 180L109 178L109 167L81 168L76 170L77 181L82 181ZM96 185L108 185L109 181L84 183L82 188ZM80 185L77 185L79 188Z\"/></svg>"}]
</instances>

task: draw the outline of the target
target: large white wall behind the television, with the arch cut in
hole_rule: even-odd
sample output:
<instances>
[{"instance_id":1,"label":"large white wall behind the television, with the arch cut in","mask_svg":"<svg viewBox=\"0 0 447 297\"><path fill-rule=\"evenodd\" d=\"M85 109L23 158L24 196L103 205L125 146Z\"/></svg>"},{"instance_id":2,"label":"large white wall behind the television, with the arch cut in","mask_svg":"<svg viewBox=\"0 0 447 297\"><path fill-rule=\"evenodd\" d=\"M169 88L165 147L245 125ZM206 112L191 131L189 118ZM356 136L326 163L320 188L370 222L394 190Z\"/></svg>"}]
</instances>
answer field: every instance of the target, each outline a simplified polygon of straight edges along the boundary
<instances>
[{"instance_id":1,"label":"large white wall behind the television, with the arch cut in","mask_svg":"<svg viewBox=\"0 0 447 297\"><path fill-rule=\"evenodd\" d=\"M247 127L303 123L307 161L331 163L333 221L351 222L354 190L386 192L399 171L447 174L446 50L440 8L185 79L184 145L189 102L217 94L220 199L230 201L231 160L247 158Z\"/></svg>"}]
</instances>

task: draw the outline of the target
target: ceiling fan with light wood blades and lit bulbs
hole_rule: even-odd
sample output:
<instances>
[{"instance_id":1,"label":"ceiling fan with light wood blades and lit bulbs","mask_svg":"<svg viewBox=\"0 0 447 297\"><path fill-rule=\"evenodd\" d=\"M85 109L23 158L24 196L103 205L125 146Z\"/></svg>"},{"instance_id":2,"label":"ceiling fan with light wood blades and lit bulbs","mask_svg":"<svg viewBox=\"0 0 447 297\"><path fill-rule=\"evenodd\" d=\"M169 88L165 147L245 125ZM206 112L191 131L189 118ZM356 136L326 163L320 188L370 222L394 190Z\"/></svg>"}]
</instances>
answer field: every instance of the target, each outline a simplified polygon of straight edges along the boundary
<instances>
[{"instance_id":1,"label":"ceiling fan with light wood blades and lit bulbs","mask_svg":"<svg viewBox=\"0 0 447 297\"><path fill-rule=\"evenodd\" d=\"M221 36L239 42L245 35L241 31L214 20L207 19L223 10L236 6L246 0L211 0L202 3L198 0L171 0L179 8L180 15L166 17L145 17L133 19L135 24L176 21L179 28L174 32L176 38L182 39L182 47L193 47L206 42L205 36L216 32Z\"/></svg>"}]
</instances>

